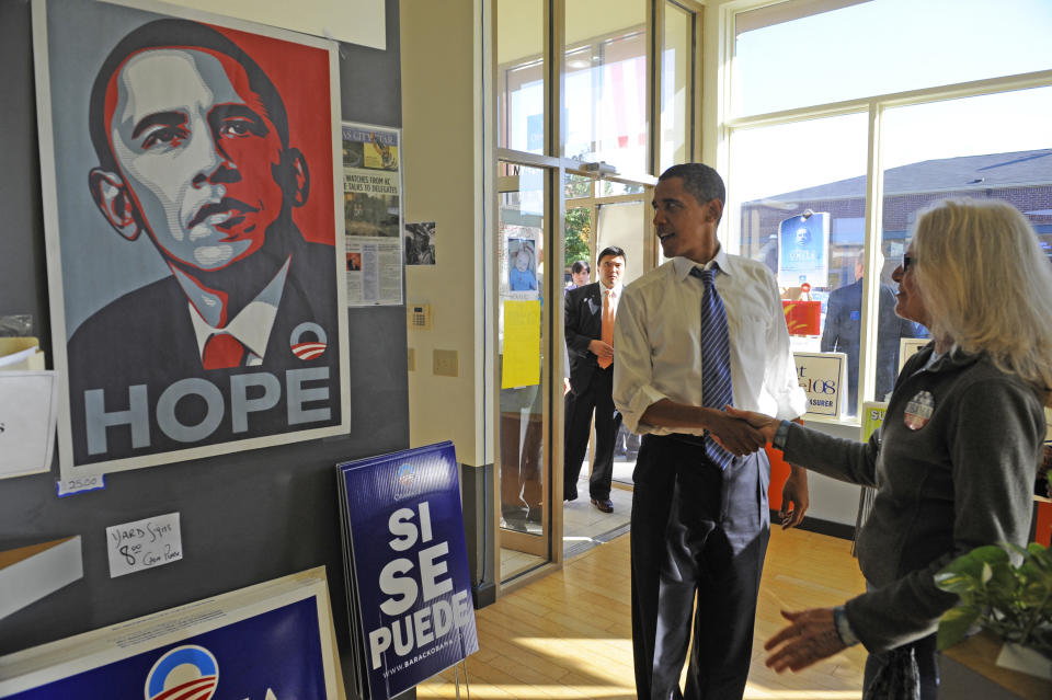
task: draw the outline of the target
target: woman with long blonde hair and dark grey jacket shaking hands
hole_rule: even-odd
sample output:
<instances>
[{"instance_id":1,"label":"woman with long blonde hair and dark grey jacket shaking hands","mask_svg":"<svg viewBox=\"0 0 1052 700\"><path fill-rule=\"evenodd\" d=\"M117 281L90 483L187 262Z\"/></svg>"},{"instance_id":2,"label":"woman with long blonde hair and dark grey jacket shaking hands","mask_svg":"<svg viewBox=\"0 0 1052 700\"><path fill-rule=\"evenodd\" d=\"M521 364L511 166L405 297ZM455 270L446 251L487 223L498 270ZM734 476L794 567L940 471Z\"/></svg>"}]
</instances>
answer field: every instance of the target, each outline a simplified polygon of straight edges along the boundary
<instances>
[{"instance_id":1,"label":"woman with long blonde hair and dark grey jacket shaking hands","mask_svg":"<svg viewBox=\"0 0 1052 700\"><path fill-rule=\"evenodd\" d=\"M892 278L895 313L934 341L907 360L869 441L729 412L790 463L877 489L857 541L866 593L784 611L790 624L767 642L767 665L799 670L861 643L865 697L914 697L888 695L887 682L916 664L919 697L930 700L936 629L958 600L936 587L936 572L976 547L1024 546L1029 535L1052 387L1052 267L1010 205L949 200L917 218Z\"/></svg>"}]
</instances>

